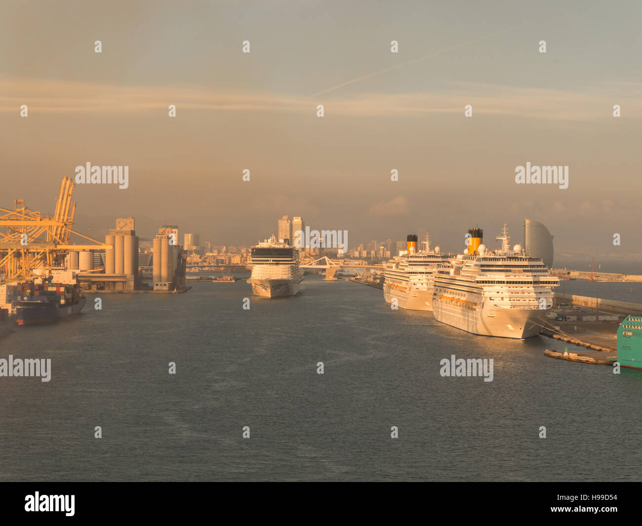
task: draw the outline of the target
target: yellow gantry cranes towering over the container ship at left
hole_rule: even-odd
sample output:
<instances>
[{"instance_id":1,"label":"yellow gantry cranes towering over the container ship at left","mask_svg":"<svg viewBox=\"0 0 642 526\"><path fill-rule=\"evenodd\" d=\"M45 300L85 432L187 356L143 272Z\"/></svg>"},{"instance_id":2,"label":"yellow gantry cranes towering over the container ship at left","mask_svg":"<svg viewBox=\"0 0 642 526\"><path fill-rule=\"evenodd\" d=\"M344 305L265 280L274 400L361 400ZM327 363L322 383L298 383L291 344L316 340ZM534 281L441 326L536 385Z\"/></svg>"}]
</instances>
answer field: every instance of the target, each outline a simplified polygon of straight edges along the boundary
<instances>
[{"instance_id":1,"label":"yellow gantry cranes towering over the container ship at left","mask_svg":"<svg viewBox=\"0 0 642 526\"><path fill-rule=\"evenodd\" d=\"M70 250L112 248L100 241L71 230L76 203L71 204L74 192L71 177L64 177L53 217L43 217L24 206L24 199L13 201L13 210L0 208L0 285L28 280L37 275L49 275L52 268L64 266ZM4 230L4 231L3 231ZM94 244L69 244L74 233Z\"/></svg>"}]
</instances>

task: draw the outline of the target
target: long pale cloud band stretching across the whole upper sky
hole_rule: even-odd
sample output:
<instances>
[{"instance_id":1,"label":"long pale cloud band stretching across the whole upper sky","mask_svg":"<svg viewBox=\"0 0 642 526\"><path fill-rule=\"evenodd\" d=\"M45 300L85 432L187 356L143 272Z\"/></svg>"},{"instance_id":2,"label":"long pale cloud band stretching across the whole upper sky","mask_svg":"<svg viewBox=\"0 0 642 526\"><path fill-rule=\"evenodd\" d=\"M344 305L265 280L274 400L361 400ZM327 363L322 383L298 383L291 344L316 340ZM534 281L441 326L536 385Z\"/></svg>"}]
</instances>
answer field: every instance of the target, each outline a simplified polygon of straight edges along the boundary
<instances>
[{"instance_id":1,"label":"long pale cloud band stretching across the whole upper sky","mask_svg":"<svg viewBox=\"0 0 642 526\"><path fill-rule=\"evenodd\" d=\"M474 117L519 116L546 120L585 121L612 117L614 101L626 105L627 114L642 116L642 83L610 83L586 92L562 91L480 83L456 83L429 93L357 93L310 100L307 96L217 90L206 87L110 86L42 79L0 80L0 112L156 113L168 111L265 111L314 117L324 104L325 118L419 117L431 113L464 116L473 106ZM474 118L473 117L473 118ZM315 117L316 118L316 117Z\"/></svg>"}]
</instances>

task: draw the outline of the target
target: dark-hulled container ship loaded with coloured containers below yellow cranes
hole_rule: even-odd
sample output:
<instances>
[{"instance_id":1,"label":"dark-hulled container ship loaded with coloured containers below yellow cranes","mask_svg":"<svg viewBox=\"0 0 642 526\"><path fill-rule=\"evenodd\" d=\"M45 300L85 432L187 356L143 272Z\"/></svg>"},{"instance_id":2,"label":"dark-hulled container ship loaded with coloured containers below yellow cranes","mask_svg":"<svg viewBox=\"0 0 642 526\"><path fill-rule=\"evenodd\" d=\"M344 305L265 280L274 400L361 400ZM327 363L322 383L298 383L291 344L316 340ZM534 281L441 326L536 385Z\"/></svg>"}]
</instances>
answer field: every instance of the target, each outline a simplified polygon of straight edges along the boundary
<instances>
[{"instance_id":1,"label":"dark-hulled container ship loaded with coloured containers below yellow cranes","mask_svg":"<svg viewBox=\"0 0 642 526\"><path fill-rule=\"evenodd\" d=\"M18 325L53 323L80 314L85 296L80 284L33 280L7 287L7 299L15 308Z\"/></svg>"}]
</instances>

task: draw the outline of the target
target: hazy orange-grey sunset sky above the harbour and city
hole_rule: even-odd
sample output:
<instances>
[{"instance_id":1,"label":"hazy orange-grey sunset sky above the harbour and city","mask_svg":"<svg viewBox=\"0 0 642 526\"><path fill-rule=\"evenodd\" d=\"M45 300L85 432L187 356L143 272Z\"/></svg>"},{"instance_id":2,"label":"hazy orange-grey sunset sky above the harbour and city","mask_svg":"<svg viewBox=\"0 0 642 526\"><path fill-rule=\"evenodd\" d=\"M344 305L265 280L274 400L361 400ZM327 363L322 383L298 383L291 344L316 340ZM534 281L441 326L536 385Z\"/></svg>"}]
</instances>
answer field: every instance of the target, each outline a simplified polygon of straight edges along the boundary
<instances>
[{"instance_id":1,"label":"hazy orange-grey sunset sky above the harbour and city","mask_svg":"<svg viewBox=\"0 0 642 526\"><path fill-rule=\"evenodd\" d=\"M142 237L170 223L251 244L287 214L349 231L351 248L422 227L454 251L477 224L491 248L505 222L519 241L528 217L556 253L641 253L641 15L636 1L4 1L0 207L53 213L62 177L91 162L129 167L125 190L74 190L75 230L98 239L132 215ZM568 188L516 184L527 162L568 166Z\"/></svg>"}]
</instances>

